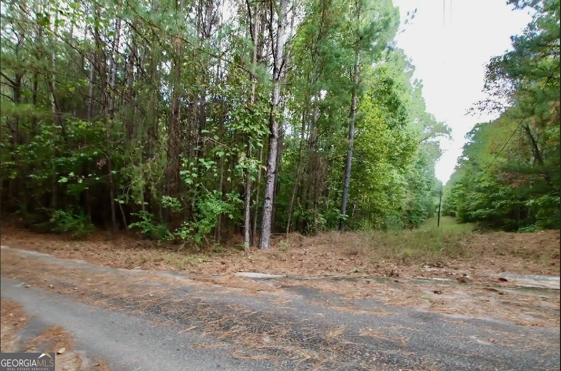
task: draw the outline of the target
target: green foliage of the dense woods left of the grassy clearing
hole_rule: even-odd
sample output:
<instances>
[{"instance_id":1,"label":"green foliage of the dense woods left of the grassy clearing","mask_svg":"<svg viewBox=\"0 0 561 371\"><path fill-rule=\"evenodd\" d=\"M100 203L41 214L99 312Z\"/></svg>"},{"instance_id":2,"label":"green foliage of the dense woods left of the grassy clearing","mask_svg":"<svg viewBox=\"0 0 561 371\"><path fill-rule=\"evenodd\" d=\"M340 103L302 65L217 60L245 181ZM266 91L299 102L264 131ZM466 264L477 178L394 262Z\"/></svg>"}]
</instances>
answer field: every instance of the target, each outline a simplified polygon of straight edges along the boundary
<instances>
[{"instance_id":1,"label":"green foliage of the dense woods left of the grassy clearing","mask_svg":"<svg viewBox=\"0 0 561 371\"><path fill-rule=\"evenodd\" d=\"M414 67L392 47L392 1L296 4L274 111L269 12L250 5L265 22L254 45L246 4L232 2L235 16L215 22L217 4L207 12L168 0L6 3L2 207L36 219L49 208L68 231L89 230L85 215L150 239L218 244L242 223L248 175L259 227L265 175L276 178L277 231L289 219L305 233L341 218L356 230L421 225L434 212L434 164L449 128L426 112ZM208 35L194 32L204 24ZM351 212L342 217L355 88ZM271 114L282 129L275 173L266 164Z\"/></svg>"}]
</instances>

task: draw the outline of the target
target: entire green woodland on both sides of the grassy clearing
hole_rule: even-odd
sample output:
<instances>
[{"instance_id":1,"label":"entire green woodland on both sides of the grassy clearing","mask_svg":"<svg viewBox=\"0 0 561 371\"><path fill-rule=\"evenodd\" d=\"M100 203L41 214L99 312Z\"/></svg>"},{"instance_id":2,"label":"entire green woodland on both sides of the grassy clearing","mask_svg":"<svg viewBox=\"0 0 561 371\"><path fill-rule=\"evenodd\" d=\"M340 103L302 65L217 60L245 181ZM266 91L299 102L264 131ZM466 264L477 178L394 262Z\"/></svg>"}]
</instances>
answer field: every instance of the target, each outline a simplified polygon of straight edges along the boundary
<instances>
[{"instance_id":1,"label":"entire green woodland on both sides of the grassy clearing","mask_svg":"<svg viewBox=\"0 0 561 371\"><path fill-rule=\"evenodd\" d=\"M559 228L559 0L489 62L489 99L443 213ZM3 1L2 211L29 227L233 233L399 230L435 216L449 127L396 47L391 0ZM508 140L507 140L508 139Z\"/></svg>"}]
</instances>

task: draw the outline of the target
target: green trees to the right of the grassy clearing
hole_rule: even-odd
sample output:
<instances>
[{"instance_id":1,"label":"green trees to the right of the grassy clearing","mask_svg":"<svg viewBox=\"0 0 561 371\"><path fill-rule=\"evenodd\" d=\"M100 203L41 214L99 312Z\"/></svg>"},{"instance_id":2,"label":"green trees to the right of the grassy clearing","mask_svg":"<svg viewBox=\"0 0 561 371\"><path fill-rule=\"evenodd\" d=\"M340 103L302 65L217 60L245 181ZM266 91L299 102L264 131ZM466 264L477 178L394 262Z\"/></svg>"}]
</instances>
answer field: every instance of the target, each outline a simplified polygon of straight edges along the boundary
<instances>
[{"instance_id":1,"label":"green trees to the right of the grassy clearing","mask_svg":"<svg viewBox=\"0 0 561 371\"><path fill-rule=\"evenodd\" d=\"M445 187L444 213L518 232L559 230L559 1L510 1L534 16L489 62L477 124Z\"/></svg>"}]
</instances>

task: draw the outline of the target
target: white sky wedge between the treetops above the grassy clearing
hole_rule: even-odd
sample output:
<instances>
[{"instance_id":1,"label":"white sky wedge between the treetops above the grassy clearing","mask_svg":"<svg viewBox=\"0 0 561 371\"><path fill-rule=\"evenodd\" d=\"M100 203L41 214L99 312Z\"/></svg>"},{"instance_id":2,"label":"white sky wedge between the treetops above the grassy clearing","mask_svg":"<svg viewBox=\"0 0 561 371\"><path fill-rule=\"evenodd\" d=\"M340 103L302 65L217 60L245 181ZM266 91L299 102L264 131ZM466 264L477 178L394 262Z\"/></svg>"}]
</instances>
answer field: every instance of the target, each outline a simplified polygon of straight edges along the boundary
<instances>
[{"instance_id":1,"label":"white sky wedge between the treetops above the grassy clearing","mask_svg":"<svg viewBox=\"0 0 561 371\"><path fill-rule=\"evenodd\" d=\"M436 164L436 177L446 182L462 154L464 136L477 122L493 116L467 116L466 110L484 98L485 64L511 46L531 20L527 10L513 11L506 0L394 0L402 24L407 11L415 18L402 25L397 46L412 59L415 77L423 82L427 111L452 127L453 140ZM451 13L450 13L451 4ZM445 12L443 12L445 7ZM444 20L444 23L443 23Z\"/></svg>"}]
</instances>

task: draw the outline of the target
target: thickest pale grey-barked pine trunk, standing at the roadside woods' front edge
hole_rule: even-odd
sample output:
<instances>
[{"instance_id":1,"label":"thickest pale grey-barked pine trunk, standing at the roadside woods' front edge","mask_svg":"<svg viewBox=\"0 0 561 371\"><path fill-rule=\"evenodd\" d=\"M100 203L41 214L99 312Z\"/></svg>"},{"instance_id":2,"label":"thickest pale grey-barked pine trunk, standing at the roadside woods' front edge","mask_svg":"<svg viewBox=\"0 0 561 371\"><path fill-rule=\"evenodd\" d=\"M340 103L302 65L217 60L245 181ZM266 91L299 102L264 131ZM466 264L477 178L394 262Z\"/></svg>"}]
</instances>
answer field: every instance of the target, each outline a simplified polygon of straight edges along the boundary
<instances>
[{"instance_id":1,"label":"thickest pale grey-barked pine trunk, standing at the roadside woods' front edge","mask_svg":"<svg viewBox=\"0 0 561 371\"><path fill-rule=\"evenodd\" d=\"M279 125L277 122L278 108L280 104L280 74L283 66L284 38L286 33L285 16L288 0L280 0L277 12L277 34L273 35L273 2L269 9L269 33L271 40L275 40L273 49L273 91L272 103L269 116L269 153L267 155L267 173L265 180L265 195L263 205L263 217L261 218L261 236L259 248L268 249L271 245L271 223L273 217L273 193L275 173L277 170L277 150L279 138Z\"/></svg>"}]
</instances>

